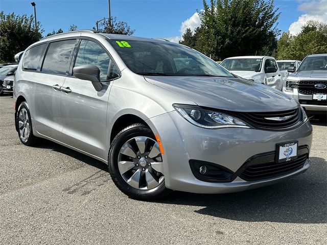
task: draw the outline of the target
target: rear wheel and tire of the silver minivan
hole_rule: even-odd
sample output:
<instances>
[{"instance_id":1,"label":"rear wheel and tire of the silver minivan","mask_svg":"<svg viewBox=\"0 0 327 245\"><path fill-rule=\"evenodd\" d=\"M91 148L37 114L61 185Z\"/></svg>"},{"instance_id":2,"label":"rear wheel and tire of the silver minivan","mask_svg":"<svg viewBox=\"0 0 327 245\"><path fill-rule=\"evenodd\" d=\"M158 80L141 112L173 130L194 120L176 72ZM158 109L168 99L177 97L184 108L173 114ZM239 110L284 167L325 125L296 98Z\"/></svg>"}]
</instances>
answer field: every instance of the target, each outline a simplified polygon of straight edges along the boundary
<instances>
[{"instance_id":1,"label":"rear wheel and tire of the silver minivan","mask_svg":"<svg viewBox=\"0 0 327 245\"><path fill-rule=\"evenodd\" d=\"M37 137L33 135L31 114L26 101L22 102L18 107L16 117L18 137L21 143L32 146L36 143Z\"/></svg>"}]
</instances>

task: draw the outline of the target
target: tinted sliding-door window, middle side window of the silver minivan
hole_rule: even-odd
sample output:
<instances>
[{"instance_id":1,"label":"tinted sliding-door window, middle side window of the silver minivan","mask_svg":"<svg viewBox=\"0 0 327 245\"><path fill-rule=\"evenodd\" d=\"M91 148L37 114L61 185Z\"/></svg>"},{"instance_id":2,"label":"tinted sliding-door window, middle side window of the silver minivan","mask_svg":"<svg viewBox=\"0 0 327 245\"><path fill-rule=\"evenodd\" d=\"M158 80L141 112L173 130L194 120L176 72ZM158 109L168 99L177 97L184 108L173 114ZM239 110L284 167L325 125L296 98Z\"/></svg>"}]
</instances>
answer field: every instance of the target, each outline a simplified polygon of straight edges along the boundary
<instances>
[{"instance_id":1,"label":"tinted sliding-door window, middle side window of the silver minivan","mask_svg":"<svg viewBox=\"0 0 327 245\"><path fill-rule=\"evenodd\" d=\"M46 52L42 72L66 75L76 40L52 42Z\"/></svg>"}]
</instances>

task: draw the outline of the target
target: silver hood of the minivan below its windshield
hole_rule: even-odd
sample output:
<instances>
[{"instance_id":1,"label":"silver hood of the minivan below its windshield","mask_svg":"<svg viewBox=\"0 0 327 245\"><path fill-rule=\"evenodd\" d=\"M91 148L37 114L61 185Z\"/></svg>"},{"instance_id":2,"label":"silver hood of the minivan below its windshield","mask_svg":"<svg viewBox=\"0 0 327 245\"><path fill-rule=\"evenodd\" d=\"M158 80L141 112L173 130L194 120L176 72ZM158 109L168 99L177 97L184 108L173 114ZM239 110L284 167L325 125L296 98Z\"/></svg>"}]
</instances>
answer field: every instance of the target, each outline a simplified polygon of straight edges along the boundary
<instances>
[{"instance_id":1,"label":"silver hood of the minivan below its windshield","mask_svg":"<svg viewBox=\"0 0 327 245\"><path fill-rule=\"evenodd\" d=\"M298 107L294 99L281 91L244 79L153 76L145 79L202 107L243 112L283 111Z\"/></svg>"}]
</instances>

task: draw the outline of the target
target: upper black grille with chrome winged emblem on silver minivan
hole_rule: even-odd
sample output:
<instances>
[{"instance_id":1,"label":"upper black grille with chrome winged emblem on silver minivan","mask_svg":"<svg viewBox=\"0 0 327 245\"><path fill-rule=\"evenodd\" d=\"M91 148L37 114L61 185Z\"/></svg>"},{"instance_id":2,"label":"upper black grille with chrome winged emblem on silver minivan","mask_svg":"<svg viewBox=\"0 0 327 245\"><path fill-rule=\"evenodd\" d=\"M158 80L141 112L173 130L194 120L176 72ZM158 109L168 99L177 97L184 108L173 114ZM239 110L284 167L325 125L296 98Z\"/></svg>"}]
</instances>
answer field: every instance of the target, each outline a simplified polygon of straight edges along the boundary
<instances>
[{"instance_id":1,"label":"upper black grille with chrome winged emblem on silver minivan","mask_svg":"<svg viewBox=\"0 0 327 245\"><path fill-rule=\"evenodd\" d=\"M247 121L256 129L284 130L298 126L301 121L301 114L302 113L300 109L297 108L293 110L277 112L247 112L241 113L238 116L241 117L240 119ZM285 120L276 120L278 118L283 119L285 117L289 118Z\"/></svg>"}]
</instances>

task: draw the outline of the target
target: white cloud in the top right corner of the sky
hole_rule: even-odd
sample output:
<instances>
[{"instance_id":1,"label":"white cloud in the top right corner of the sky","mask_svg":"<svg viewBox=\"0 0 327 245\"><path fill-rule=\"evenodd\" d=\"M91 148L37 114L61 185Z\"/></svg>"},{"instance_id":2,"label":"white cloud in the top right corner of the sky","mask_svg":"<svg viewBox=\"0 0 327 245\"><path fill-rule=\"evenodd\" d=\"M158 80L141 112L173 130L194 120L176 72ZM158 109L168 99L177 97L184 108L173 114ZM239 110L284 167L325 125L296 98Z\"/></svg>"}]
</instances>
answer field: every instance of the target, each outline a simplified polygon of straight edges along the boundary
<instances>
[{"instance_id":1,"label":"white cloud in the top right corner of the sky","mask_svg":"<svg viewBox=\"0 0 327 245\"><path fill-rule=\"evenodd\" d=\"M292 35L297 35L308 20L319 20L327 23L327 0L302 3L299 5L298 10L305 12L305 14L302 14L297 21L291 23L289 31Z\"/></svg>"}]
</instances>

